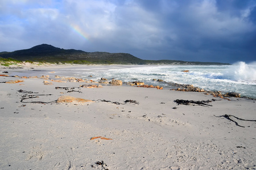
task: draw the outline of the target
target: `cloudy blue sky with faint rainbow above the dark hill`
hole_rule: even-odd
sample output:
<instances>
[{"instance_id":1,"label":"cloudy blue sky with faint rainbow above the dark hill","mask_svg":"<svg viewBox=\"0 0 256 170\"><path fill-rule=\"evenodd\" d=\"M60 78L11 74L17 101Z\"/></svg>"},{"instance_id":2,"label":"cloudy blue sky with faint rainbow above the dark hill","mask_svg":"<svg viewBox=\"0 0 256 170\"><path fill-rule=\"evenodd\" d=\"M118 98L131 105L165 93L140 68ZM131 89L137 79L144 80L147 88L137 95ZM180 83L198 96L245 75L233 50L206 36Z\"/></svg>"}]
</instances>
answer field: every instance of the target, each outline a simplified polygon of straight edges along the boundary
<instances>
[{"instance_id":1,"label":"cloudy blue sky with faint rainbow above the dark hill","mask_svg":"<svg viewBox=\"0 0 256 170\"><path fill-rule=\"evenodd\" d=\"M0 52L49 44L141 59L256 61L256 0L1 0Z\"/></svg>"}]
</instances>

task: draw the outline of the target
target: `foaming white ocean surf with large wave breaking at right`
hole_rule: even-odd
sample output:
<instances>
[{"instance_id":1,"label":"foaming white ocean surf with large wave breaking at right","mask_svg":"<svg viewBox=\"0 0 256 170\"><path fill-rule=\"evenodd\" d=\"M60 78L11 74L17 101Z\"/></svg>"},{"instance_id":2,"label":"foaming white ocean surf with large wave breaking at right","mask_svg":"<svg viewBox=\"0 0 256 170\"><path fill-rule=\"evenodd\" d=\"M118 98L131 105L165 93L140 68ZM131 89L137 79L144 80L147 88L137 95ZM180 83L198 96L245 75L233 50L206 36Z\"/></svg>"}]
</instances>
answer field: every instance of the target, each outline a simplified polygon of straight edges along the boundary
<instances>
[{"instance_id":1,"label":"foaming white ocean surf with large wave breaking at right","mask_svg":"<svg viewBox=\"0 0 256 170\"><path fill-rule=\"evenodd\" d=\"M189 70L187 73L184 70ZM238 92L256 99L256 63L237 62L233 65L94 65L65 67L56 70L35 70L38 75L75 76L98 80L107 78L123 82L140 81L164 88L178 84L193 84L204 90ZM49 74L49 71L55 71ZM92 77L89 77L89 76ZM162 79L157 82L153 79Z\"/></svg>"}]
</instances>

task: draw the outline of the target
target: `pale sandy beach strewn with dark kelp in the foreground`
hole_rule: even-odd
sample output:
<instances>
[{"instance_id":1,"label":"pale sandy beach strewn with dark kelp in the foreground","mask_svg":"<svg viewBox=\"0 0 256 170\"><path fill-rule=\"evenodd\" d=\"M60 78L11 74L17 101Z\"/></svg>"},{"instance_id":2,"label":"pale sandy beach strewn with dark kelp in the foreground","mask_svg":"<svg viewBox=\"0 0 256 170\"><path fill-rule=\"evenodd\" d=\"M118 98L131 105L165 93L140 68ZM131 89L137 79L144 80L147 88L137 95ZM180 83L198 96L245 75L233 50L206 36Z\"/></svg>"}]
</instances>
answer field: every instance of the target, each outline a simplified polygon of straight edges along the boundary
<instances>
[{"instance_id":1,"label":"pale sandy beach strewn with dark kelp in the foreground","mask_svg":"<svg viewBox=\"0 0 256 170\"><path fill-rule=\"evenodd\" d=\"M23 82L2 83L9 80ZM47 86L40 78L0 76L0 82L0 169L256 169L256 122L236 118L256 120L254 100L104 84L79 88L92 84L84 82ZM55 102L64 95L94 102ZM177 105L176 99L212 106ZM216 117L225 114L240 126Z\"/></svg>"}]
</instances>

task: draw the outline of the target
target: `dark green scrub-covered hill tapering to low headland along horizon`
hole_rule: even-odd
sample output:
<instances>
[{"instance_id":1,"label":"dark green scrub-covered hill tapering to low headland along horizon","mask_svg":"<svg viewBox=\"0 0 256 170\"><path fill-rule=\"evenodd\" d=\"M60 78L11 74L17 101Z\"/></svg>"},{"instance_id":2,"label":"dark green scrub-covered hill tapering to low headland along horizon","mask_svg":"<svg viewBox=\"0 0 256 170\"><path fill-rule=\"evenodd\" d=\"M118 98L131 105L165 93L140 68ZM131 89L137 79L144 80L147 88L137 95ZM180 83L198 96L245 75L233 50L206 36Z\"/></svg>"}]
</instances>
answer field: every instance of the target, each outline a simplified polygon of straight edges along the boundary
<instances>
[{"instance_id":1,"label":"dark green scrub-covered hill tapering to low headland along horizon","mask_svg":"<svg viewBox=\"0 0 256 170\"><path fill-rule=\"evenodd\" d=\"M18 61L52 62L52 63L99 63L99 64L186 64L186 65L227 65L216 62L185 62L175 60L144 60L128 53L84 52L75 49L61 49L55 46L42 44L30 49L14 52L1 52L2 58L13 58Z\"/></svg>"}]
</instances>

